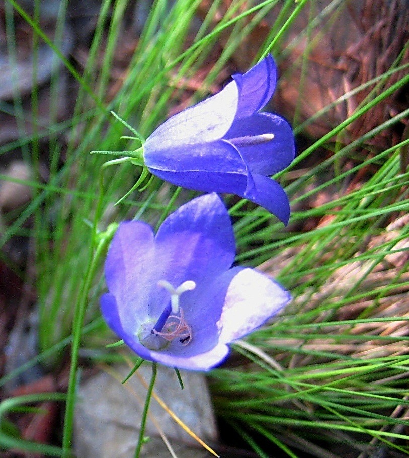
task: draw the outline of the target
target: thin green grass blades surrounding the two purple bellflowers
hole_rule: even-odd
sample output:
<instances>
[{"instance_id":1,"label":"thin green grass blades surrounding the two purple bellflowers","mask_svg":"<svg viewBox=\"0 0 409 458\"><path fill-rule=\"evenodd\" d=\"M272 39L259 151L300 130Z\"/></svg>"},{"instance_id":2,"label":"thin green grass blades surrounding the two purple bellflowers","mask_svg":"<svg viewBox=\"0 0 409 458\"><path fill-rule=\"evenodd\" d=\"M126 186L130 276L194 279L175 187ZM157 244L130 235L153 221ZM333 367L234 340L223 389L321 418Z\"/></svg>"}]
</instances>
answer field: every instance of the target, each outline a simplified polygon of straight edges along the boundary
<instances>
[{"instance_id":1,"label":"thin green grass blades surrounding the two purple bellflowers","mask_svg":"<svg viewBox=\"0 0 409 458\"><path fill-rule=\"evenodd\" d=\"M15 22L19 16L33 30L34 67L38 69L40 64L36 58L39 46L46 43L54 50L55 62L60 61L79 86L71 119L59 122L57 101L62 83L59 73L53 75L50 123L45 132L38 115L36 72L31 112L23 110L17 90L13 106L0 105L0 110L15 116L20 132L20 138L3 145L0 154L19 148L33 168L30 180L4 174L0 177L33 190L27 206L5 215L7 226L0 235L0 247L14 236L24 235L30 237L36 250L34 286L40 354L20 371L39 361L54 370L71 344L64 452L71 443L79 346L98 350L99 356L88 364L120 359L104 347L110 334L98 309L104 290L102 264L115 228L110 224L136 217L157 226L195 195L154 179L145 191L135 191L114 206L134 185L141 168L129 163L106 168L103 194L99 194L100 167L111 158L89 153L137 148L137 141L120 139L131 132L110 111L147 137L177 105L189 79L211 62L203 84L192 94L192 103L206 97L228 60L240 53L252 31L268 16L271 28L255 50L257 58L272 52L280 63L302 40L307 43L307 52L282 75L283 79L290 78L295 68L301 68L293 119L298 136L306 135L305 129L315 120L325 119L335 106L363 91L366 96L326 135L309 139L308 146L299 148L294 163L278 175L293 206L287 230L265 210L225 197L235 221L237 261L275 275L291 290L294 300L274 322L234 346L234 366L228 361L225 367L211 372L215 409L261 457L269 456L275 447L284 456L301 458L307 453L341 458L344 451L337 450L343 444L360 458L382 446L409 454L407 420L402 420L407 418L408 404L404 308L409 282L408 226L407 222L393 226L409 208L408 172L402 170L401 163L409 140L403 137L389 148L376 148L372 143L377 135L400 125L408 110L393 112L359 138L349 139L347 133L355 120L407 85L409 77L396 79L402 74L399 72L407 70L403 51L383 74L346 91L302 121L300 103L308 97L308 56L322 36L331 33L330 25L336 27L345 14L346 2L328 2L322 12L317 12L313 0L266 0L260 4L244 0L222 4L215 0L202 15L200 27L194 29L199 1L177 0L170 6L157 0L124 72L123 84L108 101L128 2L102 2L87 62L81 69L60 50L67 2L61 2L52 38L39 22L40 2L35 2L34 15L15 0L7 0L5 5L10 62L17 61ZM217 20L216 11L224 13ZM307 11L308 26L287 40L302 11ZM24 127L27 119L34 124L30 133ZM63 140L62 133L68 141ZM39 148L46 138L49 178L44 183ZM364 178L350 188L359 176ZM312 199L323 194L329 198L311 206ZM28 221L32 221L31 226ZM24 276L7 252L2 258ZM0 385L18 372L0 379ZM24 399L16 400L20 401L25 403ZM0 445L7 447L2 437ZM29 442L17 446L51 455L62 452Z\"/></svg>"}]
</instances>

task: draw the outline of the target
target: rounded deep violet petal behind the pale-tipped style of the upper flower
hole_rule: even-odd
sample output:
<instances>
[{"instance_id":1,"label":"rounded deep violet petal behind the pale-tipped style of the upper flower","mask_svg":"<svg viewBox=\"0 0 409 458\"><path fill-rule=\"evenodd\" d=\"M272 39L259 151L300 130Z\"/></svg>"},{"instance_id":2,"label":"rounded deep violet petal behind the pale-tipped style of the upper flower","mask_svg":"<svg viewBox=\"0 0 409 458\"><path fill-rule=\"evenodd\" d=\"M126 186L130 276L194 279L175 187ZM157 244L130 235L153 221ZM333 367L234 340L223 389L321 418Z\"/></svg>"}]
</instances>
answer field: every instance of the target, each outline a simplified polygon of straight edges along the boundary
<instances>
[{"instance_id":1,"label":"rounded deep violet petal behind the pale-tipped style of the upper flower","mask_svg":"<svg viewBox=\"0 0 409 458\"><path fill-rule=\"evenodd\" d=\"M273 134L270 141L262 142L262 135ZM256 137L251 144L252 137ZM235 139L247 139L238 144ZM294 159L294 135L290 125L280 116L256 113L248 118L234 121L225 139L240 151L251 173L273 175L285 169Z\"/></svg>"}]
</instances>

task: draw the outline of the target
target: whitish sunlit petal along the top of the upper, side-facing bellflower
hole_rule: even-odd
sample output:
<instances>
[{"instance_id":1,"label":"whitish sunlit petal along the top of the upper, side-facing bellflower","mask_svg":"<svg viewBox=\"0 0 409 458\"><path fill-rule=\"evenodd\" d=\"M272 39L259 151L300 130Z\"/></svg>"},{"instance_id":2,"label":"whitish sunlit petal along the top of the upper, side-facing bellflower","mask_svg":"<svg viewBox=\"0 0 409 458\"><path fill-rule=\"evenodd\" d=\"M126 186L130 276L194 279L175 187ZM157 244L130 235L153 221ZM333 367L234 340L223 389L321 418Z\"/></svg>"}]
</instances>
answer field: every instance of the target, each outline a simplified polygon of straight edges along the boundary
<instances>
[{"instance_id":1,"label":"whitish sunlit petal along the top of the upper, side-facing bellflower","mask_svg":"<svg viewBox=\"0 0 409 458\"><path fill-rule=\"evenodd\" d=\"M218 94L172 116L146 140L145 161L158 150L222 138L233 122L237 104L237 85L231 82Z\"/></svg>"}]
</instances>

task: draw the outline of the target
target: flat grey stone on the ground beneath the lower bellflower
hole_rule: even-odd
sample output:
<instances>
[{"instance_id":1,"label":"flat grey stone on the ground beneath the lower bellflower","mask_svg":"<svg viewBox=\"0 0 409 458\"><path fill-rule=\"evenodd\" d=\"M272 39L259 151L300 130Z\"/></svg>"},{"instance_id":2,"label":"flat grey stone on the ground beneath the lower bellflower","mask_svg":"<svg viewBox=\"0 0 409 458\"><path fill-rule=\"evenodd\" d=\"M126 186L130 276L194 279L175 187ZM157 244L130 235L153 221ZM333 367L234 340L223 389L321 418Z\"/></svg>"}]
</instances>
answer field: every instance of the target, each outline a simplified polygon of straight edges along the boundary
<instances>
[{"instance_id":1,"label":"flat grey stone on the ground beneath the lower bellflower","mask_svg":"<svg viewBox=\"0 0 409 458\"><path fill-rule=\"evenodd\" d=\"M204 442L214 443L217 430L205 377L200 373L181 371L185 386L181 390L174 369L163 366L157 369L154 392ZM125 367L115 367L114 370L122 378L129 372ZM74 430L78 458L133 457L146 396L146 388L139 376L149 383L150 363L143 363L125 385L101 372L80 386ZM154 423L171 442L178 458L211 456L153 398L145 432L150 441L143 445L141 456L171 456Z\"/></svg>"}]
</instances>

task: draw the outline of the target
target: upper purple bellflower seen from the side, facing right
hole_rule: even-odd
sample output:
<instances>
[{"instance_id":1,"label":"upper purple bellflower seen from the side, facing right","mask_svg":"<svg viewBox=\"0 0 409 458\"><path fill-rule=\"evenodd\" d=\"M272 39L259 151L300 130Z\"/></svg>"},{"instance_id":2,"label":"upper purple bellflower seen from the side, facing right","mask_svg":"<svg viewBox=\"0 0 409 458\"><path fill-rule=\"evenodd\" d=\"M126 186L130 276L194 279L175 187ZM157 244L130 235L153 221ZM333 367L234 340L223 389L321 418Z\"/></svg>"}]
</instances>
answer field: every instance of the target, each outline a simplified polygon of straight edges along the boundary
<instances>
[{"instance_id":1,"label":"upper purple bellflower seen from the side, facing right","mask_svg":"<svg viewBox=\"0 0 409 458\"><path fill-rule=\"evenodd\" d=\"M226 192L249 199L288 223L284 190L268 178L294 159L289 124L259 113L273 95L271 55L218 94L159 126L144 144L144 162L163 180L188 189Z\"/></svg>"}]
</instances>

